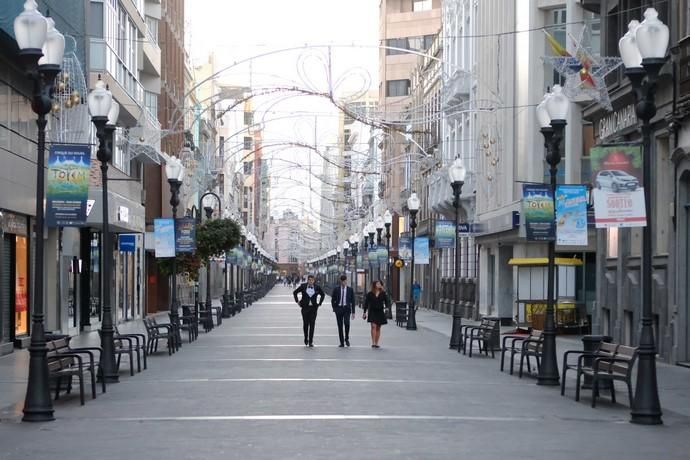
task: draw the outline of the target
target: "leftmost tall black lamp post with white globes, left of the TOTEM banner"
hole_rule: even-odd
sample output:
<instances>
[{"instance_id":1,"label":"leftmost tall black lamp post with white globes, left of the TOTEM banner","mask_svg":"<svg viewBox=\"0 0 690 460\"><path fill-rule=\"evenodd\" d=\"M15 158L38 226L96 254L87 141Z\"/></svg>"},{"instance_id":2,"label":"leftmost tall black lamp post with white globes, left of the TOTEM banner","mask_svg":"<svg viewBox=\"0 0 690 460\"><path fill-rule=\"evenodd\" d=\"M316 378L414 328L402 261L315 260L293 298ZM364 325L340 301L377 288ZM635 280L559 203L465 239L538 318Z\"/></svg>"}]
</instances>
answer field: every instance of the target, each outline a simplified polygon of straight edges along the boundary
<instances>
[{"instance_id":1,"label":"leftmost tall black lamp post with white globes, left of the TOTEM banner","mask_svg":"<svg viewBox=\"0 0 690 460\"><path fill-rule=\"evenodd\" d=\"M48 348L43 324L43 227L45 199L45 139L46 115L52 107L55 77L60 73L65 51L65 38L55 29L52 19L46 19L37 10L36 2L29 0L24 11L14 20L14 34L19 46L19 57L27 77L33 82L31 109L38 118L36 156L36 260L34 275L34 309L32 314L31 344L29 345L29 376L24 400L25 422L55 420L50 398L48 377Z\"/></svg>"}]
</instances>

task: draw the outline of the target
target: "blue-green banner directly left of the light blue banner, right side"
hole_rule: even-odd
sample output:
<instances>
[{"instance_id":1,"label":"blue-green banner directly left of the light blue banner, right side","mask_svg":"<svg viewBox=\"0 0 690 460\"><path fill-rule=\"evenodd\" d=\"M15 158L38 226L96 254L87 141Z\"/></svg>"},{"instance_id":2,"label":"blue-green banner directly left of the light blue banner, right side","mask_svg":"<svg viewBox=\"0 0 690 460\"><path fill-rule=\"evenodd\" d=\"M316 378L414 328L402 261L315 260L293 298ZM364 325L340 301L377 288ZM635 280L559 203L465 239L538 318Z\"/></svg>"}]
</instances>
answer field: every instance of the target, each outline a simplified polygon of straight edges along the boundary
<instances>
[{"instance_id":1,"label":"blue-green banner directly left of the light blue banner, right side","mask_svg":"<svg viewBox=\"0 0 690 460\"><path fill-rule=\"evenodd\" d=\"M555 238L553 194L550 185L523 184L522 210L528 241L553 241Z\"/></svg>"}]
</instances>

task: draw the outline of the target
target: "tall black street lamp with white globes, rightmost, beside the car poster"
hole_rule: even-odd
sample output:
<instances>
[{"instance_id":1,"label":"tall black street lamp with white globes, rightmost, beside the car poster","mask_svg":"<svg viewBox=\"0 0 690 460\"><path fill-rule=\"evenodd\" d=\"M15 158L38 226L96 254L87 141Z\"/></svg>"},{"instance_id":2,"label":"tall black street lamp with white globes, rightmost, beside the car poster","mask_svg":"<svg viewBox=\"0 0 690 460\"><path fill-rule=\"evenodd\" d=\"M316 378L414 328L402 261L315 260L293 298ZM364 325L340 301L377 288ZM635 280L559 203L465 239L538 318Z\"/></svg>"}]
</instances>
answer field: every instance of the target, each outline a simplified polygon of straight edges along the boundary
<instances>
[{"instance_id":1,"label":"tall black street lamp with white globes, rightmost, beside the car poster","mask_svg":"<svg viewBox=\"0 0 690 460\"><path fill-rule=\"evenodd\" d=\"M642 229L642 329L640 331L635 399L630 421L642 425L659 425L661 404L656 378L656 342L652 314L652 125L656 115L656 82L666 63L669 30L659 20L654 8L644 12L642 24L630 21L628 32L618 42L625 65L625 75L635 93L635 113L642 120L642 183L646 188L644 207L647 225ZM646 79L645 79L646 77Z\"/></svg>"}]
</instances>

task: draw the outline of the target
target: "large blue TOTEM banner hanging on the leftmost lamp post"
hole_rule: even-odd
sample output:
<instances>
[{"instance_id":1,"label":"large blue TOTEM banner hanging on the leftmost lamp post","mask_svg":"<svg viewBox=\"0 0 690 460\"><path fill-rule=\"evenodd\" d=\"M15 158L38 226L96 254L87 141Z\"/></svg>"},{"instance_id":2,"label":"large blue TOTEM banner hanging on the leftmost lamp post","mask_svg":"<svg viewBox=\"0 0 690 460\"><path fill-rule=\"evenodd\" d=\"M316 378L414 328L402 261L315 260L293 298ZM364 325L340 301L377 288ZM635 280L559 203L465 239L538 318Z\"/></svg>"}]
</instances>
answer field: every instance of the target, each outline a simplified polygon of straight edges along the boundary
<instances>
[{"instance_id":1,"label":"large blue TOTEM banner hanging on the leftmost lamp post","mask_svg":"<svg viewBox=\"0 0 690 460\"><path fill-rule=\"evenodd\" d=\"M48 227L76 227L86 222L90 167L90 146L50 146L46 184Z\"/></svg>"}]
</instances>

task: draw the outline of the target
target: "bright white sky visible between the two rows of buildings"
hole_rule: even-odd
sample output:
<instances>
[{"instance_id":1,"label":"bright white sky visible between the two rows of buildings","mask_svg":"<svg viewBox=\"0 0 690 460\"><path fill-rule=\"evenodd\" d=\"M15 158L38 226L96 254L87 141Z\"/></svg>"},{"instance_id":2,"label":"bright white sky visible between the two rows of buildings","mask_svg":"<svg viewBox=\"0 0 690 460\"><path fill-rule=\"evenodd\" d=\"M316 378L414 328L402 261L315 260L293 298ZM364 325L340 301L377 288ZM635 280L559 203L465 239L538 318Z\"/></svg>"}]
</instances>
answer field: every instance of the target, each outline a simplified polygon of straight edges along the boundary
<instances>
[{"instance_id":1,"label":"bright white sky visible between the two rows of buildings","mask_svg":"<svg viewBox=\"0 0 690 460\"><path fill-rule=\"evenodd\" d=\"M378 88L378 7L379 0L195 0L186 5L187 47L193 62L215 51L218 67L230 67L223 82L316 92L333 86L336 96L350 97ZM290 47L300 49L281 51ZM323 152L335 144L338 112L330 101L285 96L254 100L255 120L267 120L264 145L294 141ZM307 172L311 164L319 173L318 156L287 147L264 156L272 158L272 214L291 208L318 219L319 181L312 176L310 192Z\"/></svg>"}]
</instances>

